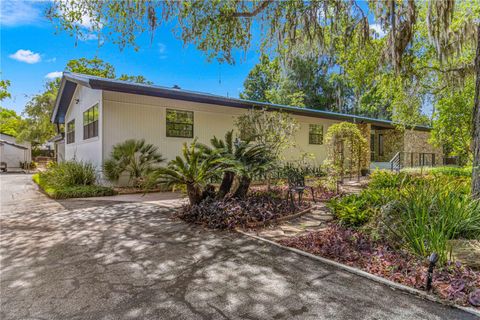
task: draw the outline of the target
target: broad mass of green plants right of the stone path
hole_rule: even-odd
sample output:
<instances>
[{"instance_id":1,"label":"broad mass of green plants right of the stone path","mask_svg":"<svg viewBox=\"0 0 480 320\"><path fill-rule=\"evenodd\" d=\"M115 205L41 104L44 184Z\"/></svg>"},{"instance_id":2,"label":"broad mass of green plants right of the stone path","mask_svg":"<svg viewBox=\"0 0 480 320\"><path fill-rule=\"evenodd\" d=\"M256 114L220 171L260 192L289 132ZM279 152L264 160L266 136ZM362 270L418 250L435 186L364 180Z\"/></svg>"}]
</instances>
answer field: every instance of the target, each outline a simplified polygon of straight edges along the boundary
<instances>
[{"instance_id":1,"label":"broad mass of green plants right of the stone path","mask_svg":"<svg viewBox=\"0 0 480 320\"><path fill-rule=\"evenodd\" d=\"M448 259L449 240L480 237L480 202L470 196L471 168L439 167L421 174L376 171L359 195L332 200L339 220L360 227L373 223L373 233L391 245L426 257Z\"/></svg>"}]
</instances>

